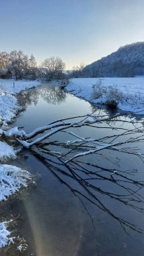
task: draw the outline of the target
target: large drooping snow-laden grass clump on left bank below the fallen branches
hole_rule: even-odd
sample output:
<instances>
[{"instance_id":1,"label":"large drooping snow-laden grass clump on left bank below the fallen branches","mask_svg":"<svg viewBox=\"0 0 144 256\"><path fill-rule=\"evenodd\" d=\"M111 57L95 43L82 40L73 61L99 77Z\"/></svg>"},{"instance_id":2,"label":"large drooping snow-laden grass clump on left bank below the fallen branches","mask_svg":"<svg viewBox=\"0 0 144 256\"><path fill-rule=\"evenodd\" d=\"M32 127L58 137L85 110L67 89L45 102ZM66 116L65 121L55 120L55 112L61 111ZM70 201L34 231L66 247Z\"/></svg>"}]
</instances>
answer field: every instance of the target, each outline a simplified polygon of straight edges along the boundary
<instances>
[{"instance_id":1,"label":"large drooping snow-laden grass clump on left bank below the fallen branches","mask_svg":"<svg viewBox=\"0 0 144 256\"><path fill-rule=\"evenodd\" d=\"M27 187L30 173L17 166L0 164L0 201L6 200L9 195Z\"/></svg>"}]
</instances>

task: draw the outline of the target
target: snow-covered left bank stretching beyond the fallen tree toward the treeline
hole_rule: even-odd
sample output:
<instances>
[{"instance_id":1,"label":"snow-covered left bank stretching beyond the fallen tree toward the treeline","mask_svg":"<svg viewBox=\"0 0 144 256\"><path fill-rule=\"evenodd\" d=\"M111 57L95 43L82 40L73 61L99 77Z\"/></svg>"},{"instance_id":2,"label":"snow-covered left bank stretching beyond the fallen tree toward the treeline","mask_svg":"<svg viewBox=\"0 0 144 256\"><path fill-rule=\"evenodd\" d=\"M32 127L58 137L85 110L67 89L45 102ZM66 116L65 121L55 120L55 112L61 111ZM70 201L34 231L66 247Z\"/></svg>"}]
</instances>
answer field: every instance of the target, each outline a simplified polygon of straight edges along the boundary
<instances>
[{"instance_id":1,"label":"snow-covered left bank stretching beyond the fallen tree toward the treeline","mask_svg":"<svg viewBox=\"0 0 144 256\"><path fill-rule=\"evenodd\" d=\"M17 110L21 109L17 104L15 94L39 85L40 82L38 81L0 79L0 125L7 125L15 117Z\"/></svg>"}]
</instances>

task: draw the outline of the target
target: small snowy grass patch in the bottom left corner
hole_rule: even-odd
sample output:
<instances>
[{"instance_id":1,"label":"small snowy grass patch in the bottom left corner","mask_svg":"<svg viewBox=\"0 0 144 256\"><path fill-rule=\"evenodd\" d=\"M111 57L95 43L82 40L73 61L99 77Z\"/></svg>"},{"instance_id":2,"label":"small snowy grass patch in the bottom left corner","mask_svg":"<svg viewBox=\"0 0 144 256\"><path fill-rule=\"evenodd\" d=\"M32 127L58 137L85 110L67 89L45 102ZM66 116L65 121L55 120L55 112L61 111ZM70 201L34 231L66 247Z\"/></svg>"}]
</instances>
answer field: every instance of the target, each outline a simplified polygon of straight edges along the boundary
<instances>
[{"instance_id":1,"label":"small snowy grass patch in the bottom left corner","mask_svg":"<svg viewBox=\"0 0 144 256\"><path fill-rule=\"evenodd\" d=\"M9 220L11 222L11 220ZM0 248L13 243L14 237L10 237L11 232L7 230L9 222L0 222Z\"/></svg>"}]
</instances>

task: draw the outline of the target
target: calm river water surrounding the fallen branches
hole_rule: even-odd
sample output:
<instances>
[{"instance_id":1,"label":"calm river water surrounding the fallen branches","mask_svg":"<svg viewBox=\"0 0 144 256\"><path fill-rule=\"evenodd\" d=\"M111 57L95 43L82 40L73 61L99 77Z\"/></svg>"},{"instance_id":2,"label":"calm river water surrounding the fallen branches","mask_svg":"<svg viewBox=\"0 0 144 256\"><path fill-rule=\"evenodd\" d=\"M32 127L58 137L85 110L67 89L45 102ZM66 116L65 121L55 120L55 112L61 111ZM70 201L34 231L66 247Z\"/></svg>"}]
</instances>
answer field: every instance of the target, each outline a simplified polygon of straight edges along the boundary
<instances>
[{"instance_id":1,"label":"calm river water surrounding the fallen branches","mask_svg":"<svg viewBox=\"0 0 144 256\"><path fill-rule=\"evenodd\" d=\"M26 132L58 119L95 110L85 100L67 94L53 84L43 84L40 88L23 92L20 103L26 109L11 126L24 127ZM107 110L101 110L101 114L100 110L96 111L99 115L107 113ZM110 135L112 130L83 127L75 133L81 137L97 137ZM61 142L67 139L71 136L65 133L53 137ZM143 150L142 145L139 147ZM51 145L50 148L63 151L61 145ZM11 161L11 164L34 174L37 183L29 195L22 196L11 206L12 212L23 218L19 228L28 243L24 255L143 255L143 186L136 188L135 182L129 183L121 176L116 178L119 181L112 181L110 172L106 172L106 168L118 170L120 174L127 172L129 179L143 181L143 162L135 156L118 156L108 150L104 154L89 156L88 160L95 166L87 166L85 170L91 168L102 175L94 180L89 177L90 184L94 185L92 190L85 187L84 181L88 180L81 172L81 166L74 168L83 179L79 182L66 174L66 167L54 156L46 154L46 158L45 155L40 158L38 154L24 150ZM96 168L96 164L105 169ZM138 191L141 199L132 191Z\"/></svg>"}]
</instances>

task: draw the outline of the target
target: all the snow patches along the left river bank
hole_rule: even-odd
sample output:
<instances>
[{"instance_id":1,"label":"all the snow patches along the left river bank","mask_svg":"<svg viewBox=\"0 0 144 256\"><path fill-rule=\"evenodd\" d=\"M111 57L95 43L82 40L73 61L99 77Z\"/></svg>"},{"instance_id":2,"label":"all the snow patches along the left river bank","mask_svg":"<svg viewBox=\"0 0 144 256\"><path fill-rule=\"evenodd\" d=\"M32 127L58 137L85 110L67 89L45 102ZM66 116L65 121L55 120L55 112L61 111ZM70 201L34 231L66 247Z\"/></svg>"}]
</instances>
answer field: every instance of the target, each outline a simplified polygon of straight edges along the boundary
<instances>
[{"instance_id":1,"label":"all the snow patches along the left river bank","mask_svg":"<svg viewBox=\"0 0 144 256\"><path fill-rule=\"evenodd\" d=\"M15 117L17 110L20 110L20 106L17 104L17 98L15 94L28 90L34 86L39 86L40 82L26 82L17 81L13 84L12 79L0 79L0 128L7 126L7 123ZM17 127L15 127L15 132ZM9 132L5 131L5 136L12 135L13 130L9 129ZM16 151L13 146L9 146L5 141L1 141L2 130L0 129L0 201L6 200L7 197L20 190L20 188L26 187L28 180L30 180L30 173L26 170L22 170L17 166L1 164L1 161L6 161L7 158L16 158ZM11 222L11 221L10 221ZM7 230L9 226L8 222L0 222L0 248L13 243L11 232ZM19 248L20 250L20 248Z\"/></svg>"}]
</instances>

